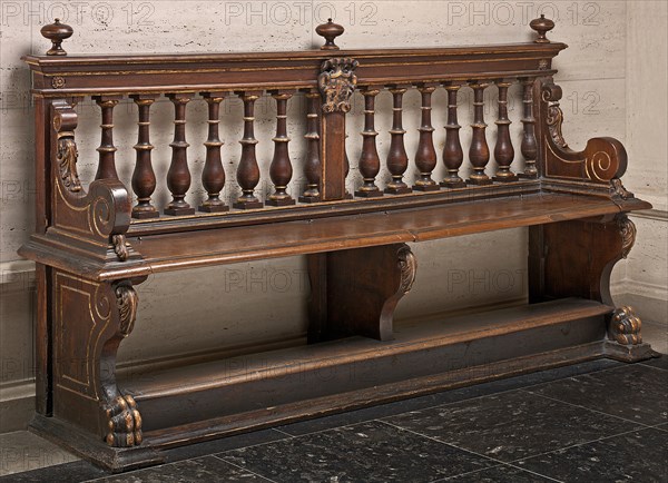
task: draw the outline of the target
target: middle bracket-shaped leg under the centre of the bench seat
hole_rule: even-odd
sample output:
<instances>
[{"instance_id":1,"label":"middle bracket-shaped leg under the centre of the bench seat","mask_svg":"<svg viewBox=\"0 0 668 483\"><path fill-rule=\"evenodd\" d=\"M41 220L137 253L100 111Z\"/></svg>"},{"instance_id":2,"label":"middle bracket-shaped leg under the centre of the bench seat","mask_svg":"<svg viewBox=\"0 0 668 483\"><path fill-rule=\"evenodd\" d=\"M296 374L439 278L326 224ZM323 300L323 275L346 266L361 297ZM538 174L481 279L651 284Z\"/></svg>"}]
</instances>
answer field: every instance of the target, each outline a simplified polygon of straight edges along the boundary
<instances>
[{"instance_id":1,"label":"middle bracket-shaped leg under the centre of the bench seat","mask_svg":"<svg viewBox=\"0 0 668 483\"><path fill-rule=\"evenodd\" d=\"M310 342L350 335L392 339L394 309L415 269L405 244L310 255Z\"/></svg>"}]
</instances>

